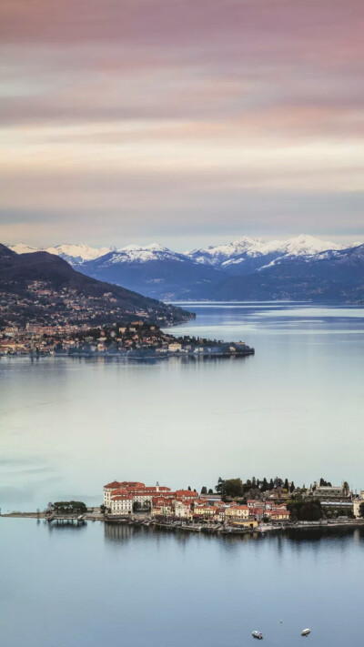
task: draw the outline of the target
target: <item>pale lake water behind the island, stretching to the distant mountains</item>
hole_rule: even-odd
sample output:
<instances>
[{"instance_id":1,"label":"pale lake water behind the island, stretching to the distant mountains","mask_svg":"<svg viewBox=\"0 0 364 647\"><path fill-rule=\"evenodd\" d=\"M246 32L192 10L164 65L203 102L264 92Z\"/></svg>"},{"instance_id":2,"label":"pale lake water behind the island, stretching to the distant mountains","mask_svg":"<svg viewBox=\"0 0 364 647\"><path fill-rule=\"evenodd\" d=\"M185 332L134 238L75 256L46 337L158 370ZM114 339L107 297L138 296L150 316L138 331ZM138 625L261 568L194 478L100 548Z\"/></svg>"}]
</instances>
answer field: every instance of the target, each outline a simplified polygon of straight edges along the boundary
<instances>
[{"instance_id":1,"label":"pale lake water behind the island, stretching to the distant mountains","mask_svg":"<svg viewBox=\"0 0 364 647\"><path fill-rule=\"evenodd\" d=\"M171 329L242 339L239 360L0 360L0 507L101 501L116 479L199 490L320 476L364 488L364 308L187 304Z\"/></svg>"}]
</instances>

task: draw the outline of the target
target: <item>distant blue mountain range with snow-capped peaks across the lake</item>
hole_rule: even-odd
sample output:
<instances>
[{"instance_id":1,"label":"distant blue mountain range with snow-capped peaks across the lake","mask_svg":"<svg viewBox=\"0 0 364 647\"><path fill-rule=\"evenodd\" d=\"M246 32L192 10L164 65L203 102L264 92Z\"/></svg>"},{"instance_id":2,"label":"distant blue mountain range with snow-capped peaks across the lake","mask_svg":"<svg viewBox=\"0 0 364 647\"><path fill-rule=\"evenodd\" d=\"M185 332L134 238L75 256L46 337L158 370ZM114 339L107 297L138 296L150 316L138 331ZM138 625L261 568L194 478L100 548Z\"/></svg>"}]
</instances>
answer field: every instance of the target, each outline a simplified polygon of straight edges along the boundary
<instances>
[{"instance_id":1,"label":"distant blue mountain range with snow-capped peaks across the lake","mask_svg":"<svg viewBox=\"0 0 364 647\"><path fill-rule=\"evenodd\" d=\"M12 246L17 253L27 246ZM153 244L90 248L59 245L47 251L78 271L152 298L334 299L363 298L364 246L298 236L264 241L238 238L226 245L184 253Z\"/></svg>"}]
</instances>

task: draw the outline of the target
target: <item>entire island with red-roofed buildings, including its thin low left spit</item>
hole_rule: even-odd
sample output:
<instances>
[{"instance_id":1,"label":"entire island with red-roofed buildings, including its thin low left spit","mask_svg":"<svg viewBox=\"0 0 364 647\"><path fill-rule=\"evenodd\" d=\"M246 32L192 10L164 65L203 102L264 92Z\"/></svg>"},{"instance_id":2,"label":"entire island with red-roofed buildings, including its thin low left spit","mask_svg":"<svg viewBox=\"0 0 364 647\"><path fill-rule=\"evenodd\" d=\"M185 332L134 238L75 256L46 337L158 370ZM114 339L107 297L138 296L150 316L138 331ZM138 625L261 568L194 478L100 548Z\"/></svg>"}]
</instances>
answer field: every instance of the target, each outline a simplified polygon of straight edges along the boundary
<instances>
[{"instance_id":1,"label":"entire island with red-roofed buildings, including its thin low left spit","mask_svg":"<svg viewBox=\"0 0 364 647\"><path fill-rule=\"evenodd\" d=\"M320 479L296 487L288 479L219 479L212 489L190 486L172 490L157 483L113 480L103 488L102 504L87 508L82 501L56 501L45 511L12 512L3 516L38 517L52 522L127 523L180 531L247 534L252 532L364 524L364 490L354 492L347 481L332 485Z\"/></svg>"}]
</instances>

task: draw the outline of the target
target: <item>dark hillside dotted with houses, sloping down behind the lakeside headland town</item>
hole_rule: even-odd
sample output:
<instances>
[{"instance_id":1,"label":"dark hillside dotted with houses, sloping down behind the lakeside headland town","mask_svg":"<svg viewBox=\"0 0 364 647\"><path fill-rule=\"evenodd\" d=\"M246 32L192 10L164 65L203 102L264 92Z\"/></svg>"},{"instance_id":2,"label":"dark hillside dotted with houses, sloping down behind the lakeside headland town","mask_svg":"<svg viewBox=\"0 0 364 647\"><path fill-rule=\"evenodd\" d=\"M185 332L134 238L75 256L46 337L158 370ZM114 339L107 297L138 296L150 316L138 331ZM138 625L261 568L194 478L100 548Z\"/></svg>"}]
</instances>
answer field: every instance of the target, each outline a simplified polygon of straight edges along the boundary
<instances>
[{"instance_id":1,"label":"dark hillside dotted with houses, sloping down behind the lakeside headland town","mask_svg":"<svg viewBox=\"0 0 364 647\"><path fill-rule=\"evenodd\" d=\"M106 323L145 319L175 323L189 317L156 299L77 272L64 258L45 251L17 254L0 244L0 319L14 322L63 318ZM56 319L55 319L56 320Z\"/></svg>"}]
</instances>

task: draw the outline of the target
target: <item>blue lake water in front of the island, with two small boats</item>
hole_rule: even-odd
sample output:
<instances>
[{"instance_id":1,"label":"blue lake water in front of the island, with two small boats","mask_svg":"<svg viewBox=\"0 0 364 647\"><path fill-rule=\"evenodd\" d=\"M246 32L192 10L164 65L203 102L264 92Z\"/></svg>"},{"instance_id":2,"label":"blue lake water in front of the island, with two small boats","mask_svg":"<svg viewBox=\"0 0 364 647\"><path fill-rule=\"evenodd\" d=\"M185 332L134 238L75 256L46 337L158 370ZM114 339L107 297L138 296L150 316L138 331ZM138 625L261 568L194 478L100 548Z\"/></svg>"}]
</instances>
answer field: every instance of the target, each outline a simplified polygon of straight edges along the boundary
<instances>
[{"instance_id":1,"label":"blue lake water in front of the island, with two small boats","mask_svg":"<svg viewBox=\"0 0 364 647\"><path fill-rule=\"evenodd\" d=\"M359 531L243 541L98 522L0 529L4 645L245 647L254 629L277 647L362 644Z\"/></svg>"}]
</instances>

